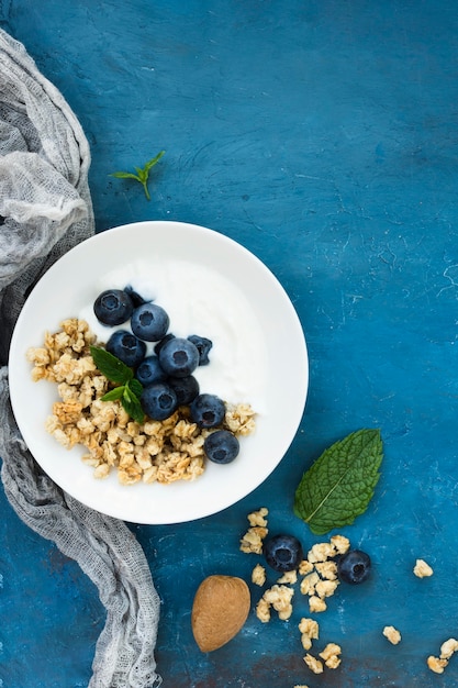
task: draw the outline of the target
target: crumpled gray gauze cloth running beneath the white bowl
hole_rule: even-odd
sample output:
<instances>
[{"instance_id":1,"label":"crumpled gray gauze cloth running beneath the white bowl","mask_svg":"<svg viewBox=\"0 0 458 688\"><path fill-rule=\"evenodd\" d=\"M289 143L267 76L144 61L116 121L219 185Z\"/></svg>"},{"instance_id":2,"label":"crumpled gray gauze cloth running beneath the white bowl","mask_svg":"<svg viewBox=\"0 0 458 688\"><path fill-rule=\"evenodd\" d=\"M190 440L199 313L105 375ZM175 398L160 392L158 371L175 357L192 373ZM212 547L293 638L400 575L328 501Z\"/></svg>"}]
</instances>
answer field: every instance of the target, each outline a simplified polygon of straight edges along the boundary
<instances>
[{"instance_id":1,"label":"crumpled gray gauze cloth running beneath the white bowl","mask_svg":"<svg viewBox=\"0 0 458 688\"><path fill-rule=\"evenodd\" d=\"M123 521L88 509L40 469L9 398L8 351L27 293L93 234L89 164L75 114L24 46L0 30L1 478L18 515L78 562L99 590L107 621L89 687L152 688L161 683L154 658L159 599L144 552Z\"/></svg>"}]
</instances>

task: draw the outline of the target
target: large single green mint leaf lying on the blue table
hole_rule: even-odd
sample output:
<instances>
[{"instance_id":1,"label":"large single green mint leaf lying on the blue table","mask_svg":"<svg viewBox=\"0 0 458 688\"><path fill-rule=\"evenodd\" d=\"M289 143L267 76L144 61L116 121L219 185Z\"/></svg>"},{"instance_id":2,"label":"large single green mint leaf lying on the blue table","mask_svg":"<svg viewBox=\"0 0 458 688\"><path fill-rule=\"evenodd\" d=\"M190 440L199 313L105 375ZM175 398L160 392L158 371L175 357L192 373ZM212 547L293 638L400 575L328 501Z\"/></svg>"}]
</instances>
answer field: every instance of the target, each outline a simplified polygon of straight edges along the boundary
<instances>
[{"instance_id":1,"label":"large single green mint leaf lying on the blue table","mask_svg":"<svg viewBox=\"0 0 458 688\"><path fill-rule=\"evenodd\" d=\"M359 430L333 444L302 476L295 515L315 535L353 523L373 496L382 456L379 430Z\"/></svg>"}]
</instances>

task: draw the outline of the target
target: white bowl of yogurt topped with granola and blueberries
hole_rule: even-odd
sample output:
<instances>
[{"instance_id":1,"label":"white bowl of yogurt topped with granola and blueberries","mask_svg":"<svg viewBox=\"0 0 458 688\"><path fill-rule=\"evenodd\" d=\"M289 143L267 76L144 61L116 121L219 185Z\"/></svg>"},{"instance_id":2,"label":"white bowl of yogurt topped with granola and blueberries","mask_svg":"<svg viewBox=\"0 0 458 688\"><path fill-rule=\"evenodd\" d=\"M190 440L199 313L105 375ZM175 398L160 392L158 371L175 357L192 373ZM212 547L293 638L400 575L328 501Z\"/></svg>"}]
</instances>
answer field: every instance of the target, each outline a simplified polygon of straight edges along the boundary
<instances>
[{"instance_id":1,"label":"white bowl of yogurt topped with granola and blueberries","mask_svg":"<svg viewBox=\"0 0 458 688\"><path fill-rule=\"evenodd\" d=\"M116 324L100 319L94 303L104 293L127 293L133 314L131 309ZM93 363L97 351L118 353L110 342L135 339L135 312L143 309L149 314L147 304L166 313L167 322L157 337L145 335L149 341L142 343L143 360L166 360L167 340L176 344L177 360L181 342L191 341L189 346L196 345L201 354L192 368L194 401L176 402L166 420L155 417L150 402L146 404L146 390L154 390L139 376L138 363L129 370L120 364L135 385L116 375L114 381L105 379ZM203 354L202 342L208 344ZM69 351L71 373L64 366ZM75 369L82 370L78 397L71 396ZM177 375L182 376L179 382L191 378L186 371ZM165 378L166 386L171 376ZM216 513L275 470L303 415L309 363L298 314L259 258L213 230L147 221L97 234L49 268L18 319L9 378L23 439L63 490L114 518L165 524ZM97 399L93 406L88 400L79 403L85 408L78 414L75 400L87 396L88 380ZM146 409L141 419L132 410L131 389ZM121 408L125 399L130 403ZM215 421L206 428L202 420L208 400L224 404L217 426ZM227 459L217 460L222 456L217 430L221 437L226 433L237 440L237 450ZM164 446L158 446L159 439ZM212 443L213 456L208 448Z\"/></svg>"}]
</instances>

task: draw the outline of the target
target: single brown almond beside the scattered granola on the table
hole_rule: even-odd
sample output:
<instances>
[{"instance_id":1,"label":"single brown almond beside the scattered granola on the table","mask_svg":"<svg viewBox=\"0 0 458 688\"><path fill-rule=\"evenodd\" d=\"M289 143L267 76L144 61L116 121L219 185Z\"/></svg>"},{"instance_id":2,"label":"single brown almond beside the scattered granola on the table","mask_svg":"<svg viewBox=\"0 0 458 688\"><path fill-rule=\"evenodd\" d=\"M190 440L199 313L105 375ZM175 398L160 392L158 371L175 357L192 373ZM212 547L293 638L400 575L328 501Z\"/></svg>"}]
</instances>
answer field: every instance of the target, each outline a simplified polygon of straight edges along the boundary
<instances>
[{"instance_id":1,"label":"single brown almond beside the scattered granola on the table","mask_svg":"<svg viewBox=\"0 0 458 688\"><path fill-rule=\"evenodd\" d=\"M250 607L249 588L234 576L209 576L199 586L191 624L202 652L222 647L241 631Z\"/></svg>"}]
</instances>

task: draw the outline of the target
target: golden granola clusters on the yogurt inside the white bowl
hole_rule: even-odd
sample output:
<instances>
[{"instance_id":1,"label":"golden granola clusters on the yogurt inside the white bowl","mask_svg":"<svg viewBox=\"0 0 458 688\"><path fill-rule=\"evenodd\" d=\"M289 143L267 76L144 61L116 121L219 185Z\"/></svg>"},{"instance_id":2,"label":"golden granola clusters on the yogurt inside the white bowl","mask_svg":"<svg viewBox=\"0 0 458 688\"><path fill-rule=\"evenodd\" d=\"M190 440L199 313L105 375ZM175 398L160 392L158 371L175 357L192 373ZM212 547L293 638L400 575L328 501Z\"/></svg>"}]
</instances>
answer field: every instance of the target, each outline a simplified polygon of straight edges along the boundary
<instances>
[{"instance_id":1,"label":"golden granola clusters on the yogurt inside the white bowl","mask_svg":"<svg viewBox=\"0 0 458 688\"><path fill-rule=\"evenodd\" d=\"M70 318L60 330L45 335L44 346L30 348L32 379L57 385L59 401L46 421L46 430L70 450L82 445L82 460L96 478L118 470L122 485L138 481L170 484L193 480L205 467L203 443L209 430L200 429L180 407L165 421L133 421L120 401L102 401L110 389L90 355L96 336L82 320ZM100 344L99 344L100 345ZM224 426L236 435L255 428L249 404L226 404Z\"/></svg>"}]
</instances>

